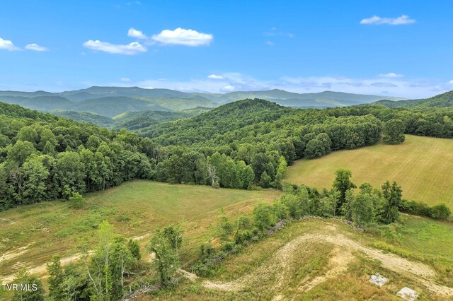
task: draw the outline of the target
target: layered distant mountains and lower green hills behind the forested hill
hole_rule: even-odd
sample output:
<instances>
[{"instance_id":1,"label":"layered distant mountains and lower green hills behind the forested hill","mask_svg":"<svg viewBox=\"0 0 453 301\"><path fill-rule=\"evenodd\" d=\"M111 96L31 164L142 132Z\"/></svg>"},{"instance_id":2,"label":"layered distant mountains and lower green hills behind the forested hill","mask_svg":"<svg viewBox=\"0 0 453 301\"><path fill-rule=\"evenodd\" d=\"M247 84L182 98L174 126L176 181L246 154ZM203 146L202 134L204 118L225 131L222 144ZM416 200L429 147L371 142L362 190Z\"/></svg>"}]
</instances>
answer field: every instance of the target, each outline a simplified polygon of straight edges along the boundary
<instances>
[{"instance_id":1,"label":"layered distant mountains and lower green hills behind the forested hill","mask_svg":"<svg viewBox=\"0 0 453 301\"><path fill-rule=\"evenodd\" d=\"M149 128L164 120L193 116L237 100L255 98L275 102L285 107L298 108L344 107L384 99L402 100L402 98L332 91L292 93L278 89L225 94L101 86L60 93L42 90L0 91L0 102L21 105L31 110L49 112L80 122L127 129Z\"/></svg>"}]
</instances>

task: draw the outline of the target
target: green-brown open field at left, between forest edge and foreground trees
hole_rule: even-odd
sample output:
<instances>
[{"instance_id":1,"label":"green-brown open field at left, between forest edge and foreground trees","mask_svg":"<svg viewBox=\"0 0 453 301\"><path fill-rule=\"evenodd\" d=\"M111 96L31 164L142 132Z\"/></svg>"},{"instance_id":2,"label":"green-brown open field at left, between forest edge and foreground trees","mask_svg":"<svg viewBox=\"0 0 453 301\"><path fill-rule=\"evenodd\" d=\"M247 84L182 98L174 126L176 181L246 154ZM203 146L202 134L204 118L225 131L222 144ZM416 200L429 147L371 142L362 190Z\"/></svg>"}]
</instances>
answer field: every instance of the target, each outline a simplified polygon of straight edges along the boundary
<instances>
[{"instance_id":1,"label":"green-brown open field at left, between forest edge and foreground trees","mask_svg":"<svg viewBox=\"0 0 453 301\"><path fill-rule=\"evenodd\" d=\"M206 186L131 181L86 195L86 206L69 208L67 202L49 201L0 213L0 278L22 267L33 268L52 255L78 252L79 238L95 244L96 228L108 220L115 232L136 237L142 246L157 228L180 223L184 228L181 258L187 264L198 255L200 244L215 233L219 209L230 218L248 213L260 201L280 197L273 190L246 191ZM147 254L144 254L147 256Z\"/></svg>"}]
</instances>

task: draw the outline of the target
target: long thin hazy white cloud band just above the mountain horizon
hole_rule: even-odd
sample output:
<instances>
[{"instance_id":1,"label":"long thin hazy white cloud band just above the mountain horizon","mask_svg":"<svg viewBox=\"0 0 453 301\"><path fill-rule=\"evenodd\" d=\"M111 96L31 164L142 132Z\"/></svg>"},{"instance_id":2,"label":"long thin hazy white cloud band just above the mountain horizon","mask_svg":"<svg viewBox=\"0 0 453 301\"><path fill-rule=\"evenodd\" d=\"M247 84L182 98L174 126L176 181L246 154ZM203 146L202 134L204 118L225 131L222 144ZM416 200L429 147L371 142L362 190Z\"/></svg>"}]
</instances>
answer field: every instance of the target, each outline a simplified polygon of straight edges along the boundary
<instances>
[{"instance_id":1,"label":"long thin hazy white cloud band just above the mountain horizon","mask_svg":"<svg viewBox=\"0 0 453 301\"><path fill-rule=\"evenodd\" d=\"M295 93L318 93L326 90L368 95L389 95L402 98L428 98L452 90L450 83L423 78L349 78L345 76L281 77L263 81L241 73L220 73L223 79L191 78L174 81L171 78L149 79L127 83L142 88L167 88L185 92L227 93L231 91L282 89ZM111 83L120 84L120 83ZM124 84L124 83L123 83Z\"/></svg>"}]
</instances>

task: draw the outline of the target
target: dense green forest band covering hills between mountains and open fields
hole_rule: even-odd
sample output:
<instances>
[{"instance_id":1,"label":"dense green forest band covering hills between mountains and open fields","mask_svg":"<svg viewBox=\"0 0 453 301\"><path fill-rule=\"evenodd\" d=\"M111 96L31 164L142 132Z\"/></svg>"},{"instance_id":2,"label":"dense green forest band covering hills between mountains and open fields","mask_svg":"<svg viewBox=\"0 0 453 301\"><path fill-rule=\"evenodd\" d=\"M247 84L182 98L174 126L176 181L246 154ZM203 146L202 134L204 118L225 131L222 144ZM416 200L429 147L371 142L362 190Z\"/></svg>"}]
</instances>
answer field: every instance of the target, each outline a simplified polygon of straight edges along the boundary
<instances>
[{"instance_id":1,"label":"dense green forest band covering hills between mountains and open fields","mask_svg":"<svg viewBox=\"0 0 453 301\"><path fill-rule=\"evenodd\" d=\"M161 112L159 120L166 114L174 115ZM403 127L396 132L449 138L452 117L449 109L296 110L255 99L153 124L137 136L1 103L0 207L68 198L134 178L278 188L294 160L377 143L386 123Z\"/></svg>"}]
</instances>

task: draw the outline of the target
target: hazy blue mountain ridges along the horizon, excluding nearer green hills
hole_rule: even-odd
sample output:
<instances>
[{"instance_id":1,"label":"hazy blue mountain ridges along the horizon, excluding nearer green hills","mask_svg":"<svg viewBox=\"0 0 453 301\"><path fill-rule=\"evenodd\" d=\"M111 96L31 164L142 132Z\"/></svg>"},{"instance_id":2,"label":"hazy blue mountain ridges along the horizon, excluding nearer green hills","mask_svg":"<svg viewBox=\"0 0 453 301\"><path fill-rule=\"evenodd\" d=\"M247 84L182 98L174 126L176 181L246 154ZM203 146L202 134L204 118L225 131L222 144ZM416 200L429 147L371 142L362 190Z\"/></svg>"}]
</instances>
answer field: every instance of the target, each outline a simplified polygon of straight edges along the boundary
<instances>
[{"instance_id":1,"label":"hazy blue mountain ridges along the horizon, excluding nearer green hills","mask_svg":"<svg viewBox=\"0 0 453 301\"><path fill-rule=\"evenodd\" d=\"M376 102L377 100L403 100L379 95L360 95L333 91L321 93L292 93L285 90L237 91L219 93L186 93L170 89L139 87L93 86L60 93L46 91L0 91L0 102L22 105L33 110L50 112L68 110L92 112L113 117L123 112L155 110L181 111L195 107L218 107L243 99L260 98L287 107L343 107ZM106 105L108 103L108 105Z\"/></svg>"}]
</instances>

